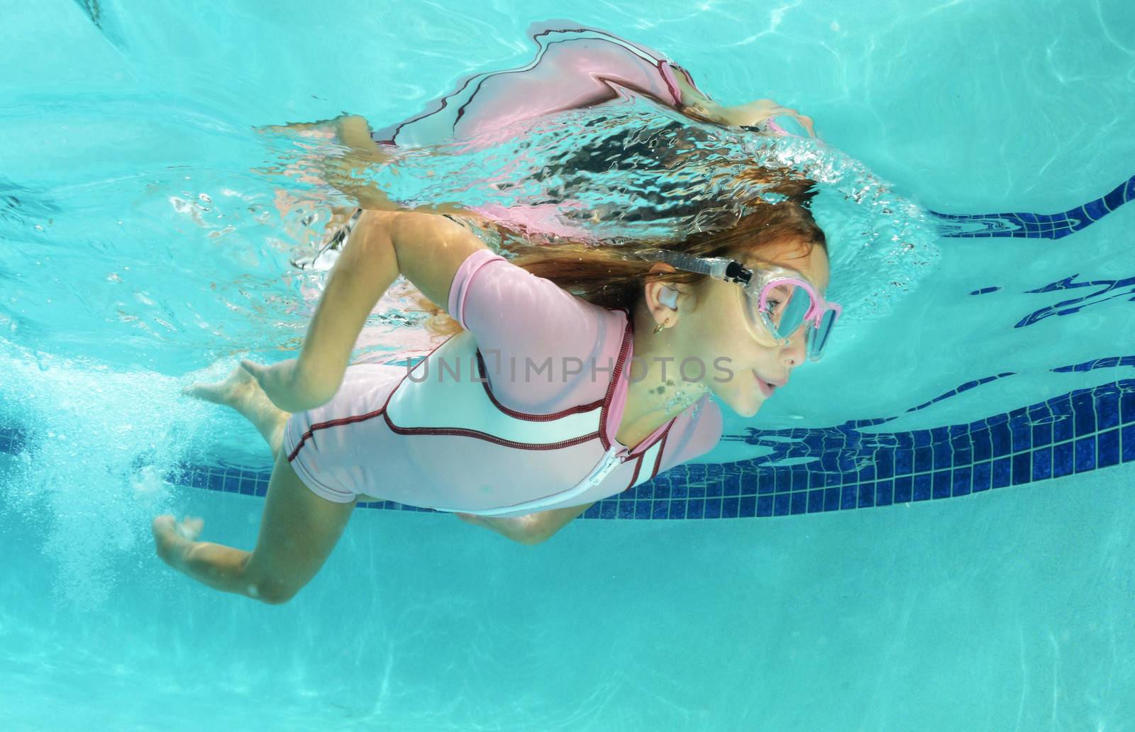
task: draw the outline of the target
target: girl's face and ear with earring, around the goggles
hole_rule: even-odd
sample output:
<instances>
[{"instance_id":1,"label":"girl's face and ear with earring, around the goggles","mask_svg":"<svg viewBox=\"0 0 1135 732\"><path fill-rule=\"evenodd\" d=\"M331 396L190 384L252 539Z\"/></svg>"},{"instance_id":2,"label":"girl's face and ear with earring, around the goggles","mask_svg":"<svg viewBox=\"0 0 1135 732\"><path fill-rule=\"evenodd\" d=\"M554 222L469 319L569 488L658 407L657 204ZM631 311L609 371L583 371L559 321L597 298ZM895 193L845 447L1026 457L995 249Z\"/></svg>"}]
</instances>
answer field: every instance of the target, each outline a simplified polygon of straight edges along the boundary
<instances>
[{"instance_id":1,"label":"girl's face and ear with earring, around the goggles","mask_svg":"<svg viewBox=\"0 0 1135 732\"><path fill-rule=\"evenodd\" d=\"M793 269L821 295L827 289L827 253L822 246L809 249L806 243L793 239L763 246L759 254L741 252L734 258L753 269L762 264ZM741 417L756 414L765 401L788 382L793 369L807 360L804 329L812 327L806 322L787 345L781 345L763 329L756 336L749 330L743 310L747 306L739 285L708 280L696 308L681 313L682 327L674 333L675 350L705 364L704 384Z\"/></svg>"}]
</instances>

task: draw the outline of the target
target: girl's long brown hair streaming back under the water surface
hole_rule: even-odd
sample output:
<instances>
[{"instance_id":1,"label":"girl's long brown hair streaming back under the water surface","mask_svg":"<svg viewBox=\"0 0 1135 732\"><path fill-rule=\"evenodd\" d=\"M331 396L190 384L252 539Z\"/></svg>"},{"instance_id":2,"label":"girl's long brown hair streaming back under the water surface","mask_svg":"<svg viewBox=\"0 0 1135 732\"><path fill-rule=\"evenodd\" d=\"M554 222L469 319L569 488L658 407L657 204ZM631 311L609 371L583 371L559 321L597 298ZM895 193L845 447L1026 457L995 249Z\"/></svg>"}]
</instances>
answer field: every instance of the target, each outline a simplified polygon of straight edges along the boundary
<instances>
[{"instance_id":1,"label":"girl's long brown hair streaming back under the water surface","mask_svg":"<svg viewBox=\"0 0 1135 732\"><path fill-rule=\"evenodd\" d=\"M696 232L680 241L640 239L619 245L595 245L575 242L553 244L526 243L523 236L498 227L501 249L518 267L537 277L560 285L577 297L607 309L627 308L633 313L642 294L647 274L654 261L640 259L645 249L672 249L697 256L737 255L759 251L788 239L799 241L808 249L818 244L826 249L823 229L812 217L809 204L816 194L815 182L791 175L788 170L758 168L749 176L760 184L763 194L773 193L781 200L754 200L749 210L737 217L733 225L708 232ZM654 272L651 279L692 285L696 289L708 280L696 272ZM426 328L437 335L461 333L461 326L424 295L414 295L419 306L429 314Z\"/></svg>"}]
</instances>

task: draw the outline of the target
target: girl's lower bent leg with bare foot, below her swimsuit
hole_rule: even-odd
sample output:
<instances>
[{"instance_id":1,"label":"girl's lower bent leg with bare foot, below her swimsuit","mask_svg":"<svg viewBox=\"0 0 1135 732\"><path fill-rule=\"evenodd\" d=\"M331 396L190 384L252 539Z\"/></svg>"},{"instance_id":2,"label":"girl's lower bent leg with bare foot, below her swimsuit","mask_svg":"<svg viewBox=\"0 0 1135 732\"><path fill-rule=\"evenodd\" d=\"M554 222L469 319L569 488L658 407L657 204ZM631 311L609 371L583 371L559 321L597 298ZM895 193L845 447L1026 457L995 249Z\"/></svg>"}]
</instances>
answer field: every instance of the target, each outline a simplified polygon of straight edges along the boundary
<instances>
[{"instance_id":1,"label":"girl's lower bent leg with bare foot, below her swimsuit","mask_svg":"<svg viewBox=\"0 0 1135 732\"><path fill-rule=\"evenodd\" d=\"M209 587L278 605L316 575L335 548L354 503L333 503L304 486L277 451L260 535L252 552L195 541L201 523L153 520L158 556Z\"/></svg>"}]
</instances>

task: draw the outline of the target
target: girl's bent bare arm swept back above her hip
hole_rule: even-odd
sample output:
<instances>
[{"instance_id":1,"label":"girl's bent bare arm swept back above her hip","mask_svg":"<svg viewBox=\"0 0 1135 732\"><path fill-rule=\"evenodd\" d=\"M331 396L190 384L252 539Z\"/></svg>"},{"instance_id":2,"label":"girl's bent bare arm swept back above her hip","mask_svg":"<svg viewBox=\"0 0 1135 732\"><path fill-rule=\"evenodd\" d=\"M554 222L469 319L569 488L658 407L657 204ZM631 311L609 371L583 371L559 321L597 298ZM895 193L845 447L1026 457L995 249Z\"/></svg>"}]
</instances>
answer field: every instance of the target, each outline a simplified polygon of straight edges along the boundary
<instances>
[{"instance_id":1,"label":"girl's bent bare arm swept back above her hip","mask_svg":"<svg viewBox=\"0 0 1135 732\"><path fill-rule=\"evenodd\" d=\"M297 359L243 365L272 404L302 412L327 403L339 388L351 351L378 300L405 275L434 302L447 302L461 263L485 244L444 217L364 211L339 254Z\"/></svg>"}]
</instances>

